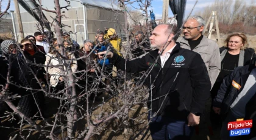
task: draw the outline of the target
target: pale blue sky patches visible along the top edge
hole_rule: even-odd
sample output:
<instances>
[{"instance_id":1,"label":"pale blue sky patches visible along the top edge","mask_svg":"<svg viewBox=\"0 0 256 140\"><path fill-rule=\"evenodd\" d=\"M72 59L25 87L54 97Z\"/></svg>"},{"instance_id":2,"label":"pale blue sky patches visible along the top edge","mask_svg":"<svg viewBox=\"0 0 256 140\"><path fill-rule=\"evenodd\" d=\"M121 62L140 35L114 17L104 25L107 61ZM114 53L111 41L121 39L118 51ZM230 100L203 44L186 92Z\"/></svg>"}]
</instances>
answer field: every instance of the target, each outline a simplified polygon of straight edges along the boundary
<instances>
[{"instance_id":1,"label":"pale blue sky patches visible along the top edge","mask_svg":"<svg viewBox=\"0 0 256 140\"><path fill-rule=\"evenodd\" d=\"M60 1L64 1L64 0L60 0ZM97 1L97 0L94 0ZM180 0L182 1L182 0ZM211 5L214 3L215 0L198 0L193 13L196 13L197 11L200 11L202 9L204 9L204 7L206 7L207 5ZM233 0L235 1L235 0ZM251 0L244 0L246 2L251 2ZM196 0L187 0L187 5L186 5L186 10L185 10L185 16L188 16L188 14L191 12L191 9L193 8L194 4L195 4ZM6 5L8 3L8 0L2 0L2 10L5 9ZM132 4L133 7L138 7L137 3ZM149 7L149 10L153 10L153 12L155 13L156 19L162 19L162 10L163 10L163 0L152 0L152 7ZM13 5L13 0L11 0L11 5L10 5L10 9L9 10L15 10L14 5ZM192 13L192 15L193 15ZM173 14L171 12L171 9L169 8L169 13L168 13L169 17L172 17Z\"/></svg>"}]
</instances>

